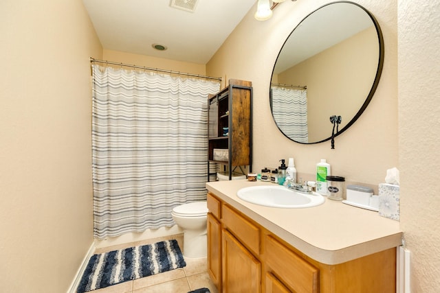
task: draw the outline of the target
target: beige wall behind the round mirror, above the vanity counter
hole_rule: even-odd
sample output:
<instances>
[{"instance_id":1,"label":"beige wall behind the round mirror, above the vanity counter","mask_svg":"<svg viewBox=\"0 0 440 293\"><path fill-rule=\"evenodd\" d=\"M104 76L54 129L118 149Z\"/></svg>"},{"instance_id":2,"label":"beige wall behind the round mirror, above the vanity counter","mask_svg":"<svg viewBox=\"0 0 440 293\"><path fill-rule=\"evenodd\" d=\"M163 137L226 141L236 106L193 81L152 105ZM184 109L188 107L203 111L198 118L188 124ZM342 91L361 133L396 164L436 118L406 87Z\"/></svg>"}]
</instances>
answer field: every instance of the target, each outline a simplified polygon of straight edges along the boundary
<instances>
[{"instance_id":1,"label":"beige wall behind the round mirror, above the vanity counter","mask_svg":"<svg viewBox=\"0 0 440 293\"><path fill-rule=\"evenodd\" d=\"M295 159L298 175L313 178L320 159L331 164L332 174L351 182L377 187L384 182L386 169L398 165L397 156L397 0L356 1L370 10L379 21L385 40L384 71L371 104L346 132L336 138L336 150L330 141L301 145L287 139L276 128L270 113L270 76L278 51L294 27L310 12L330 1L285 1L268 21L256 21L254 10L236 27L208 62L208 75L252 81L253 166L277 167L280 159ZM237 45L239 44L239 45ZM322 128L331 135L332 124ZM368 158L368 159L366 159Z\"/></svg>"}]
</instances>

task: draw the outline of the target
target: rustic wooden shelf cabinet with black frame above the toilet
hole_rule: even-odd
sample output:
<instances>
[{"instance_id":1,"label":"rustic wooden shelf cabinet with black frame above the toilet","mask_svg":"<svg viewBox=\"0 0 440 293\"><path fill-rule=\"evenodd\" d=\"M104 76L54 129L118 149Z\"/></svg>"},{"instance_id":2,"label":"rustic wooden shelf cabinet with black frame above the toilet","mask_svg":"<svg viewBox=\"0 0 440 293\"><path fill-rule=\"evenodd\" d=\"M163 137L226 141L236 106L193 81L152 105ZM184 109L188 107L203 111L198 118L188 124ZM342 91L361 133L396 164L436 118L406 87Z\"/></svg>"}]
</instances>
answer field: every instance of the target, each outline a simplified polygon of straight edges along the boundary
<instances>
[{"instance_id":1,"label":"rustic wooden shelf cabinet with black frame above the toilet","mask_svg":"<svg viewBox=\"0 0 440 293\"><path fill-rule=\"evenodd\" d=\"M229 80L208 97L208 181L210 163L223 165L229 180L245 166L252 171L252 82Z\"/></svg>"}]
</instances>

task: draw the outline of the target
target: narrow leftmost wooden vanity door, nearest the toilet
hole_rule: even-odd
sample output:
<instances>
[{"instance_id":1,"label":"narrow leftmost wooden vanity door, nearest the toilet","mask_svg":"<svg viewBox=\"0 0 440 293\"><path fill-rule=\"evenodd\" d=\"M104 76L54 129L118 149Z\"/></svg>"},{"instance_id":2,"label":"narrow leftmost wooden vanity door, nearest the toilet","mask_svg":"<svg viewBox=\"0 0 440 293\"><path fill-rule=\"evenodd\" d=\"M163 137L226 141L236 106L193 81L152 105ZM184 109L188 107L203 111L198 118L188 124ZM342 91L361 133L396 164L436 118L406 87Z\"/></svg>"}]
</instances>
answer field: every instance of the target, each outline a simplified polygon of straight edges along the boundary
<instances>
[{"instance_id":1,"label":"narrow leftmost wooden vanity door, nearest the toilet","mask_svg":"<svg viewBox=\"0 0 440 293\"><path fill-rule=\"evenodd\" d=\"M208 274L221 292L221 224L208 213Z\"/></svg>"}]
</instances>

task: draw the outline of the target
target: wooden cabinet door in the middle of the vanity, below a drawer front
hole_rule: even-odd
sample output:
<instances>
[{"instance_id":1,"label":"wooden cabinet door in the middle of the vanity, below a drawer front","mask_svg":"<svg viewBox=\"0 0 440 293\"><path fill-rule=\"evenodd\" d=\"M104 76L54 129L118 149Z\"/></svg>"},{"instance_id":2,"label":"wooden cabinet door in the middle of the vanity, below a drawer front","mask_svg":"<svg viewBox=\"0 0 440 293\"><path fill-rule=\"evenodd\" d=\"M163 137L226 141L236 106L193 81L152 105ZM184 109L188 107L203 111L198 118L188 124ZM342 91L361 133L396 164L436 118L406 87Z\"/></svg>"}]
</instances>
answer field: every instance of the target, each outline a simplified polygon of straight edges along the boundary
<instances>
[{"instance_id":1,"label":"wooden cabinet door in the middle of the vanity, below a drawer front","mask_svg":"<svg viewBox=\"0 0 440 293\"><path fill-rule=\"evenodd\" d=\"M222 231L223 293L259 293L261 263L228 231Z\"/></svg>"}]
</instances>

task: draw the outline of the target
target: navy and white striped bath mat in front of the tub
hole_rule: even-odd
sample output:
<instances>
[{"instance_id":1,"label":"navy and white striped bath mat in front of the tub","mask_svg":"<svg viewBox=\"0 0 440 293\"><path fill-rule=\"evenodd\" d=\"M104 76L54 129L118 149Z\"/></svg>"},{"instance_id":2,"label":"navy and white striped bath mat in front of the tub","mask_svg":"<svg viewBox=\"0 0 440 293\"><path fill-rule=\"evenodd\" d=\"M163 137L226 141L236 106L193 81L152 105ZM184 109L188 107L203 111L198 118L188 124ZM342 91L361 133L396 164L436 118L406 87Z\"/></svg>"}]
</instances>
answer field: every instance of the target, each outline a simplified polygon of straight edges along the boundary
<instances>
[{"instance_id":1,"label":"navy and white striped bath mat in front of the tub","mask_svg":"<svg viewBox=\"0 0 440 293\"><path fill-rule=\"evenodd\" d=\"M184 266L186 262L175 239L113 250L90 258L76 292L106 288Z\"/></svg>"}]
</instances>

